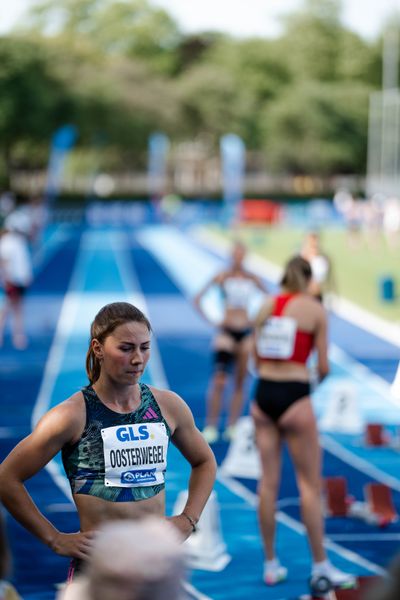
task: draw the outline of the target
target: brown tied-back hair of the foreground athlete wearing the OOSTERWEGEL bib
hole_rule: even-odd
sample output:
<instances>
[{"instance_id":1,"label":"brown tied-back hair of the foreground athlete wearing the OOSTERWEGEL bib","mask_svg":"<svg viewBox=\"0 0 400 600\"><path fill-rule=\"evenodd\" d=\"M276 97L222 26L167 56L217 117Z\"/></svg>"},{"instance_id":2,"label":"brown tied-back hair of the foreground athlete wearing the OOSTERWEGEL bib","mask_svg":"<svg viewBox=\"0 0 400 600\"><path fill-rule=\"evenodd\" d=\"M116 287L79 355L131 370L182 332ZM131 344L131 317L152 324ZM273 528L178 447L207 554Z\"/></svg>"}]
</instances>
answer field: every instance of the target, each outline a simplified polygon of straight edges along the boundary
<instances>
[{"instance_id":1,"label":"brown tied-back hair of the foreground athlete wearing the OOSTERWEGEL bib","mask_svg":"<svg viewBox=\"0 0 400 600\"><path fill-rule=\"evenodd\" d=\"M92 341L97 340L103 344L106 337L111 335L119 325L131 322L143 323L151 331L150 321L147 317L136 306L128 302L106 304L95 316L90 326L90 342L86 354L86 373L91 385L98 380L101 371L101 361L93 351Z\"/></svg>"}]
</instances>

